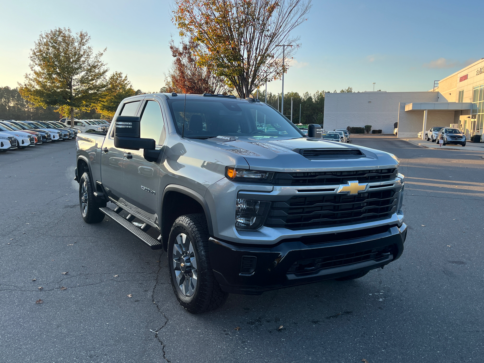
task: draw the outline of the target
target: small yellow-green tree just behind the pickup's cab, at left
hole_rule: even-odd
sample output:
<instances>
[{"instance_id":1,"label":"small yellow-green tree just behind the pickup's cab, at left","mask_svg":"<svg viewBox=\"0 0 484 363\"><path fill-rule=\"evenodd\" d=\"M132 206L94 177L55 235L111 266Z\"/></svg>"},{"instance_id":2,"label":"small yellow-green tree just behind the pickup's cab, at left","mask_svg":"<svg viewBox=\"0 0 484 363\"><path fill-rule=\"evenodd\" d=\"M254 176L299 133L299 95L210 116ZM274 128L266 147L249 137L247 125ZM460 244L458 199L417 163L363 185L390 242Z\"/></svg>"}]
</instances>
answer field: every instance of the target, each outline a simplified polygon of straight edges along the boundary
<instances>
[{"instance_id":1,"label":"small yellow-green tree just behind the pickup's cab, at left","mask_svg":"<svg viewBox=\"0 0 484 363\"><path fill-rule=\"evenodd\" d=\"M102 93L101 99L96 105L96 110L101 114L101 117L112 119L123 99L139 93L133 89L127 75L123 76L121 72L114 72L107 79L107 88Z\"/></svg>"}]
</instances>

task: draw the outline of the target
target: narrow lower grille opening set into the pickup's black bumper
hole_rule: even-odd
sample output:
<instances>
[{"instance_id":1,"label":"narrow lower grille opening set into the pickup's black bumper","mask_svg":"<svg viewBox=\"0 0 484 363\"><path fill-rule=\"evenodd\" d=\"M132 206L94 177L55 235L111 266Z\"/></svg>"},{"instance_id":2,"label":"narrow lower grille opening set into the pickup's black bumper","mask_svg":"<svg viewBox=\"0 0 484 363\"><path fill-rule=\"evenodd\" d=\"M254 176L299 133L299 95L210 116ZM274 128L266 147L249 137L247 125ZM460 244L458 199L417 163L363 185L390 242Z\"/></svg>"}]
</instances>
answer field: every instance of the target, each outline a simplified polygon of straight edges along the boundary
<instances>
[{"instance_id":1,"label":"narrow lower grille opening set into the pickup's black bumper","mask_svg":"<svg viewBox=\"0 0 484 363\"><path fill-rule=\"evenodd\" d=\"M297 275L313 274L320 270L352 265L358 262L369 260L378 262L379 260L388 258L390 254L395 255L395 246L393 244L343 255L309 258L294 262L287 270L287 273L295 273Z\"/></svg>"}]
</instances>

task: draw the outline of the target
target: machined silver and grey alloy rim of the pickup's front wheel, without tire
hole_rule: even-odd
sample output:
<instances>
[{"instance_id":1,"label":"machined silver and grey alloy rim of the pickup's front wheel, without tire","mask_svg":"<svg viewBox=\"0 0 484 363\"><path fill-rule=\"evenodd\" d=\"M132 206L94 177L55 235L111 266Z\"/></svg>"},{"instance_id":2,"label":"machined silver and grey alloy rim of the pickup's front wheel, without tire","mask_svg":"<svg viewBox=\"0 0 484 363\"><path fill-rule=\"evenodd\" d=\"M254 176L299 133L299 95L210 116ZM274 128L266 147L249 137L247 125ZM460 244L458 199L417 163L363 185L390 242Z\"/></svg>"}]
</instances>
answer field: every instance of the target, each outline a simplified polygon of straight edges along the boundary
<instances>
[{"instance_id":1,"label":"machined silver and grey alloy rim of the pickup's front wheel, without tire","mask_svg":"<svg viewBox=\"0 0 484 363\"><path fill-rule=\"evenodd\" d=\"M172 255L176 284L183 295L192 296L197 287L197 258L186 234L180 233L176 237Z\"/></svg>"}]
</instances>

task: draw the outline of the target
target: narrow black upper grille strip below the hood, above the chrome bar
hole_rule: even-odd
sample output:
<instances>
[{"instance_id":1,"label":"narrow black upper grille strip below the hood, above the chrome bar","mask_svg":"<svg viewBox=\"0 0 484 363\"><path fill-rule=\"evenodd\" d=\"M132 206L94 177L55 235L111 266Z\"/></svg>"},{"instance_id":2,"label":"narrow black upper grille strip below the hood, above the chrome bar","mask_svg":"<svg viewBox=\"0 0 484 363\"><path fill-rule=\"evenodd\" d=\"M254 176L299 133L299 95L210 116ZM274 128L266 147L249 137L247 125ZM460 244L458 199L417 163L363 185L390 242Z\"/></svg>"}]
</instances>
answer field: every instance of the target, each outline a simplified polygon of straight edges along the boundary
<instances>
[{"instance_id":1,"label":"narrow black upper grille strip below the hood, above the chrome bar","mask_svg":"<svg viewBox=\"0 0 484 363\"><path fill-rule=\"evenodd\" d=\"M396 178L398 169L312 171L301 173L276 173L272 181L276 185L335 185L347 181L390 181Z\"/></svg>"}]
</instances>

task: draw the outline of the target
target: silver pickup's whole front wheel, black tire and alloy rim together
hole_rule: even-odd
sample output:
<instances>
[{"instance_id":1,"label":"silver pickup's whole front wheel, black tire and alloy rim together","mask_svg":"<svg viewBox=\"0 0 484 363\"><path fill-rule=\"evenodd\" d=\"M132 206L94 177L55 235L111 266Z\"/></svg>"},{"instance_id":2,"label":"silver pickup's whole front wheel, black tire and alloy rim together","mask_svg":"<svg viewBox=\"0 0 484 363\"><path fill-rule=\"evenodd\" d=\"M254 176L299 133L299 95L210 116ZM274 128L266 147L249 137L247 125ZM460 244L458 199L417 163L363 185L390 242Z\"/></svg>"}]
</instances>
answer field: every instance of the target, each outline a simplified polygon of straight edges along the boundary
<instances>
[{"instance_id":1,"label":"silver pickup's whole front wheel, black tire and alloy rim together","mask_svg":"<svg viewBox=\"0 0 484 363\"><path fill-rule=\"evenodd\" d=\"M209 259L209 233L204 214L178 217L168 238L168 268L178 302L192 314L216 309L228 294L220 288Z\"/></svg>"}]
</instances>

